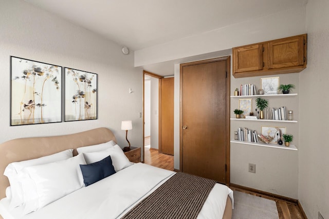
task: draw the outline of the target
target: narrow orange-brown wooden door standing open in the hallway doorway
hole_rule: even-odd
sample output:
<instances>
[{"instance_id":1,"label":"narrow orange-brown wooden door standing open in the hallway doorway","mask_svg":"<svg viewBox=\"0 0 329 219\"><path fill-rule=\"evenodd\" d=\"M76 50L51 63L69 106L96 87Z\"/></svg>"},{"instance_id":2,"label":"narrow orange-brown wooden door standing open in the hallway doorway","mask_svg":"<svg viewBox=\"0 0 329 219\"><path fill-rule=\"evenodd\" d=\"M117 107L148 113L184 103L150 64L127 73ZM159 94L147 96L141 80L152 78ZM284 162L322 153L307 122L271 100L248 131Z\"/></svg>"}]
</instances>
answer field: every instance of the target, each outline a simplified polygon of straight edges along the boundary
<instances>
[{"instance_id":1,"label":"narrow orange-brown wooden door standing open in the hallway doorway","mask_svg":"<svg viewBox=\"0 0 329 219\"><path fill-rule=\"evenodd\" d=\"M161 153L174 155L174 78L161 79Z\"/></svg>"}]
</instances>

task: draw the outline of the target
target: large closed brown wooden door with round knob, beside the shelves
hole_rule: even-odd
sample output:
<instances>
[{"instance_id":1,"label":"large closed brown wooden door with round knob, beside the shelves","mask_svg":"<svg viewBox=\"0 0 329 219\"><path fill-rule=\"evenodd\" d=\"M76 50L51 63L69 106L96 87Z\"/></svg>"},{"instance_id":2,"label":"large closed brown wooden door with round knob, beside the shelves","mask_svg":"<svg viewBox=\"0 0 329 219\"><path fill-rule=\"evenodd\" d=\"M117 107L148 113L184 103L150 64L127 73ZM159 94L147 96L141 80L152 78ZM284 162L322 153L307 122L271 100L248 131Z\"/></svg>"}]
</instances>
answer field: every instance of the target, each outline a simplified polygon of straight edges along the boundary
<instances>
[{"instance_id":1,"label":"large closed brown wooden door with round knob, beside the shelves","mask_svg":"<svg viewBox=\"0 0 329 219\"><path fill-rule=\"evenodd\" d=\"M227 65L229 57L180 67L181 170L223 183L229 142Z\"/></svg>"}]
</instances>

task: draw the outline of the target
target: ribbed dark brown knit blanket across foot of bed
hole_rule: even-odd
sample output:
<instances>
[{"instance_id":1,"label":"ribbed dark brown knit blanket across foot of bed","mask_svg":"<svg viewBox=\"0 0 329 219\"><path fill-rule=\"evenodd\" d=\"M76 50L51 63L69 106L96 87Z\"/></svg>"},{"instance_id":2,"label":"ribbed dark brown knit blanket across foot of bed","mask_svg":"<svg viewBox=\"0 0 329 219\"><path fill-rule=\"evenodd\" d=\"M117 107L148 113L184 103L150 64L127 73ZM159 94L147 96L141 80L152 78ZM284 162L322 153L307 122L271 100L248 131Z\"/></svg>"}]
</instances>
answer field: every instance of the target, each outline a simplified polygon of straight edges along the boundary
<instances>
[{"instance_id":1,"label":"ribbed dark brown knit blanket across foot of bed","mask_svg":"<svg viewBox=\"0 0 329 219\"><path fill-rule=\"evenodd\" d=\"M122 219L196 218L216 181L176 173Z\"/></svg>"}]
</instances>

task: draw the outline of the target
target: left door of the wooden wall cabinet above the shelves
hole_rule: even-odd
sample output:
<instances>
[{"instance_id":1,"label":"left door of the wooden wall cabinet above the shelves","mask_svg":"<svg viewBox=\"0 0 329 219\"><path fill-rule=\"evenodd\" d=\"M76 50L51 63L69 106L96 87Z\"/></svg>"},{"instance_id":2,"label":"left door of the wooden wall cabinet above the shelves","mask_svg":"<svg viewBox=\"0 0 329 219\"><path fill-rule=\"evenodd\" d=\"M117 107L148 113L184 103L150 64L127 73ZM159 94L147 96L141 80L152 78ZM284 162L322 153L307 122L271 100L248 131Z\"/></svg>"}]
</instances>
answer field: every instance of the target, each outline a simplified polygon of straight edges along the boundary
<instances>
[{"instance_id":1,"label":"left door of the wooden wall cabinet above the shelves","mask_svg":"<svg viewBox=\"0 0 329 219\"><path fill-rule=\"evenodd\" d=\"M263 44L233 48L233 72L263 69Z\"/></svg>"}]
</instances>

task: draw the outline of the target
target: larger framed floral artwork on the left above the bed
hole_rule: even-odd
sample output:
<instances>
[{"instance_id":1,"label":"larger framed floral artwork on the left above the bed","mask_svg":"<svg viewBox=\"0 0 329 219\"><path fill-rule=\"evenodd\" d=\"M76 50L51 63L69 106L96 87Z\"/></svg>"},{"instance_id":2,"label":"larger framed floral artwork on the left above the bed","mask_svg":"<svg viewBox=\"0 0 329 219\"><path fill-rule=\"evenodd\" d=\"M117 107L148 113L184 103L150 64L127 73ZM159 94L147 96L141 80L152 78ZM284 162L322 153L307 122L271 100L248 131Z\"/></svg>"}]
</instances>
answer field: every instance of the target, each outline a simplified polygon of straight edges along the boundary
<instances>
[{"instance_id":1,"label":"larger framed floral artwork on the left above the bed","mask_svg":"<svg viewBox=\"0 0 329 219\"><path fill-rule=\"evenodd\" d=\"M62 122L62 67L10 57L10 125Z\"/></svg>"}]
</instances>

